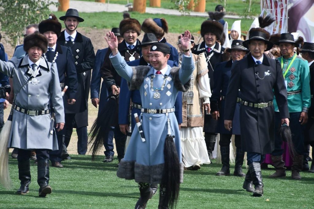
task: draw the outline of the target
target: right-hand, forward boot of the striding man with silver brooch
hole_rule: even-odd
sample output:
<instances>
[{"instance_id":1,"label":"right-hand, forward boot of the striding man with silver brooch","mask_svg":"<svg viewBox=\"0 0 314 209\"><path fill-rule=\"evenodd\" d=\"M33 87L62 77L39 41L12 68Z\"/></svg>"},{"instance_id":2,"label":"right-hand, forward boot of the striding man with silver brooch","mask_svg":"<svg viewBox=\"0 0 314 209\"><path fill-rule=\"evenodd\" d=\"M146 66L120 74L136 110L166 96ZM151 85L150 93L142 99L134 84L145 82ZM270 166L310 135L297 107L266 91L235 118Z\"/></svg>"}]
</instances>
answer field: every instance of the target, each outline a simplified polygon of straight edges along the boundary
<instances>
[{"instance_id":1,"label":"right-hand, forward boot of the striding man with silver brooch","mask_svg":"<svg viewBox=\"0 0 314 209\"><path fill-rule=\"evenodd\" d=\"M263 196L264 185L263 185L261 164L257 162L253 162L249 165L249 170L251 172L253 184L255 186L253 196L255 197Z\"/></svg>"}]
</instances>

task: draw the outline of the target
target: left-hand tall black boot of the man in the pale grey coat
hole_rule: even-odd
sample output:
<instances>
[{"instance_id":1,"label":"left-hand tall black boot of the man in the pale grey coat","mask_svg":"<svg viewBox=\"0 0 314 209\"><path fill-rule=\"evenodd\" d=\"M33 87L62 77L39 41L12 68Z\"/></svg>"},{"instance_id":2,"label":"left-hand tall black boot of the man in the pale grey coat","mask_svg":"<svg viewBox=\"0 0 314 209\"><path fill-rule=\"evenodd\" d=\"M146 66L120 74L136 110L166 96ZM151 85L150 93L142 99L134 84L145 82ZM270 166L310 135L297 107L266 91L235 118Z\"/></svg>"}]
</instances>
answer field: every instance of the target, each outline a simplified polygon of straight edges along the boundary
<instances>
[{"instance_id":1,"label":"left-hand tall black boot of the man in the pale grey coat","mask_svg":"<svg viewBox=\"0 0 314 209\"><path fill-rule=\"evenodd\" d=\"M28 185L30 185L30 160L18 161L18 168L21 186L16 193L19 195L25 195L28 193Z\"/></svg>"}]
</instances>

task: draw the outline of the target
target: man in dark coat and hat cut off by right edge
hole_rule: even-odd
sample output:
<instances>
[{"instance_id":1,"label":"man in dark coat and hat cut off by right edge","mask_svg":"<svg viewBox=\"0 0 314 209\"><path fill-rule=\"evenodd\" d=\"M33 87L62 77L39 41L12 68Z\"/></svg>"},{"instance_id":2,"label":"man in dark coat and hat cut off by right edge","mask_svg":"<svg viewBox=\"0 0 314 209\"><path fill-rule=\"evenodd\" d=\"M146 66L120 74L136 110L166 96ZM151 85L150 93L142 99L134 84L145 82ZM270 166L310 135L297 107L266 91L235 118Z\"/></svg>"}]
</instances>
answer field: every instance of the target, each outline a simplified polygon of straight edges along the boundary
<instances>
[{"instance_id":1,"label":"man in dark coat and hat cut off by right edge","mask_svg":"<svg viewBox=\"0 0 314 209\"><path fill-rule=\"evenodd\" d=\"M314 43L304 42L303 48L301 50L302 58L309 62L310 67L310 91L311 91L311 107L308 111L308 120L306 123L304 131L304 145L314 146ZM307 155L308 157L308 155ZM314 152L312 152L312 159L314 157ZM310 173L314 173L314 163L311 164Z\"/></svg>"}]
</instances>

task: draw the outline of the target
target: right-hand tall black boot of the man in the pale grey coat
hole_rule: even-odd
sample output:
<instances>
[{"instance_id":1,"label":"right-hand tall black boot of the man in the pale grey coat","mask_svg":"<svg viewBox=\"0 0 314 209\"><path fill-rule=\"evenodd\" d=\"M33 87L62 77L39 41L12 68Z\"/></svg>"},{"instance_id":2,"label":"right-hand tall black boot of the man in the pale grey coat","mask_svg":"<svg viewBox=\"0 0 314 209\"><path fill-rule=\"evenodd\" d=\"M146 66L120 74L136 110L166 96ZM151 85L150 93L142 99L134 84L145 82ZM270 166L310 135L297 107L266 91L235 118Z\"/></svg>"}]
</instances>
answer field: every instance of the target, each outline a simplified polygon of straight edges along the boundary
<instances>
[{"instance_id":1,"label":"right-hand tall black boot of the man in the pale grey coat","mask_svg":"<svg viewBox=\"0 0 314 209\"><path fill-rule=\"evenodd\" d=\"M40 197L51 194L52 188L49 183L49 159L40 159L37 163L37 183L39 185Z\"/></svg>"}]
</instances>

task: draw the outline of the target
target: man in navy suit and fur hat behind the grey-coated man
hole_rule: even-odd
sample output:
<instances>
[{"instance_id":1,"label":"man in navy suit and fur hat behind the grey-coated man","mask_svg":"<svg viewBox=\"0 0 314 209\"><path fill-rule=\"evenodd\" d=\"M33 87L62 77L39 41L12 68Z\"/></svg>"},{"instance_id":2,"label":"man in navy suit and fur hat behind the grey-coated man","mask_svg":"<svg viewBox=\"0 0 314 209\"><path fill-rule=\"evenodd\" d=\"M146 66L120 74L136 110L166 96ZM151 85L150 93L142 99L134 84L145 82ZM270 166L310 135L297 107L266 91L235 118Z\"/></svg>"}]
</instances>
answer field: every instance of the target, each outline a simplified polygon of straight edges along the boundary
<instances>
[{"instance_id":1,"label":"man in navy suit and fur hat behind the grey-coated man","mask_svg":"<svg viewBox=\"0 0 314 209\"><path fill-rule=\"evenodd\" d=\"M68 86L68 89L62 98L64 113L66 115L71 113L72 106L76 101L78 77L71 48L61 46L57 43L57 37L61 33L61 28L61 23L53 14L51 14L49 19L41 21L38 26L39 32L48 39L48 50L46 53L43 53L42 56L45 57L48 62L56 62L61 90L63 90L65 86ZM63 165L61 164L61 153L62 144L65 138L65 131L58 131L56 134L58 140L58 150L51 151L49 153L49 159L52 166L63 168Z\"/></svg>"}]
</instances>

